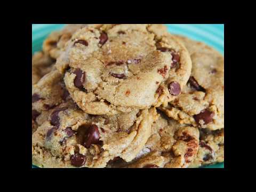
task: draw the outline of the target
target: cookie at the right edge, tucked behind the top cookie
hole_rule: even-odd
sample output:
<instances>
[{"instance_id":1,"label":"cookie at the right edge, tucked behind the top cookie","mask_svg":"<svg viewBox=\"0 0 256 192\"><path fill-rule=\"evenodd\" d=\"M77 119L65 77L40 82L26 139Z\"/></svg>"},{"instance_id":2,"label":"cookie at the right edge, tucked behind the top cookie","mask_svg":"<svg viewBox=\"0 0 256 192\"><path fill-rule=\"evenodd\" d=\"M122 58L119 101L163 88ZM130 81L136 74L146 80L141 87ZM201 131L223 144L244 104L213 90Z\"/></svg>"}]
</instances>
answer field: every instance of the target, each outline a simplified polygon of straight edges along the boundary
<instances>
[{"instance_id":1,"label":"cookie at the right edge, tucked behind the top cookie","mask_svg":"<svg viewBox=\"0 0 256 192\"><path fill-rule=\"evenodd\" d=\"M177 36L187 47L192 71L181 94L160 109L181 124L210 130L224 127L224 58L201 42Z\"/></svg>"}]
</instances>

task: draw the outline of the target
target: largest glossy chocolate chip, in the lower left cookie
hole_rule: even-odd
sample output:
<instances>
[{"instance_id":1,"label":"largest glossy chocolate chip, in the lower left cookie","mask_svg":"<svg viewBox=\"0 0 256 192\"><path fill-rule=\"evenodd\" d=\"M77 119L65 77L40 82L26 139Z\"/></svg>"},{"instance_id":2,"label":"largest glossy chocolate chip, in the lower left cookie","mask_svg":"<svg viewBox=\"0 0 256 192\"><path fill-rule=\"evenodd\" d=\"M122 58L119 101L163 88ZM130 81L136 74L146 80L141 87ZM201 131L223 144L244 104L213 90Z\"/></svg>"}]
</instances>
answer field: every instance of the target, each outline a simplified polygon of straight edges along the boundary
<instances>
[{"instance_id":1,"label":"largest glossy chocolate chip, in the lower left cookie","mask_svg":"<svg viewBox=\"0 0 256 192\"><path fill-rule=\"evenodd\" d=\"M91 125L84 138L84 146L89 148L92 144L98 144L100 139L100 132L97 125Z\"/></svg>"}]
</instances>

